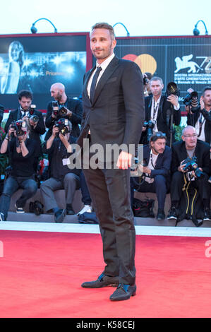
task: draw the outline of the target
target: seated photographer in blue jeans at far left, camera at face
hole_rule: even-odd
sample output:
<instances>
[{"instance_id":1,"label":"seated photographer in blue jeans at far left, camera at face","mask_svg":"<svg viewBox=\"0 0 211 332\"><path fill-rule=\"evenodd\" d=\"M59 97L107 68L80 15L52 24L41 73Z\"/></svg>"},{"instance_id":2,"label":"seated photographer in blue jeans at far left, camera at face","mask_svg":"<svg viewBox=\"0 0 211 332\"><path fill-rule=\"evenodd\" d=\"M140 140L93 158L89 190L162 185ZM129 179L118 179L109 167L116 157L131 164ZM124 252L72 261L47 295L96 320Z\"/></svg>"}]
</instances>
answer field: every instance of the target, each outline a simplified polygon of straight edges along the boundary
<instances>
[{"instance_id":1,"label":"seated photographer in blue jeans at far left, camera at face","mask_svg":"<svg viewBox=\"0 0 211 332\"><path fill-rule=\"evenodd\" d=\"M18 121L16 129L10 126L8 134L1 144L1 153L8 153L11 172L4 183L3 193L0 198L0 220L8 216L11 196L18 190L23 193L16 201L16 212L23 213L26 201L35 195L37 183L35 182L34 159L37 155L37 144L28 138L25 121Z\"/></svg>"}]
</instances>

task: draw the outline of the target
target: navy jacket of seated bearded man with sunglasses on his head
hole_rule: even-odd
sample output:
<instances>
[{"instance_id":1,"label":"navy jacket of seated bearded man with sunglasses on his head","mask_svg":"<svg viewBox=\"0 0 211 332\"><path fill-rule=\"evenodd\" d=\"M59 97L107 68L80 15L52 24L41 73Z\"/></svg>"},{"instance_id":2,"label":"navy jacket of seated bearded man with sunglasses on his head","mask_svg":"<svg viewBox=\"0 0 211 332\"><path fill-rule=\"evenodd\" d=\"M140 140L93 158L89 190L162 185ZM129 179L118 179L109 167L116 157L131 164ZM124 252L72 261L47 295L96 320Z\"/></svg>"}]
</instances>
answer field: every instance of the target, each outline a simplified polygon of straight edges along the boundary
<instances>
[{"instance_id":1,"label":"navy jacket of seated bearded man with sunglasses on his head","mask_svg":"<svg viewBox=\"0 0 211 332\"><path fill-rule=\"evenodd\" d=\"M144 146L143 147L143 159L145 160L146 164L148 165L150 160L150 147ZM151 171L151 177L155 177L156 175L163 175L167 179L170 180L170 170L171 170L171 148L166 146L164 149L164 153L159 153L156 164L155 170Z\"/></svg>"}]
</instances>

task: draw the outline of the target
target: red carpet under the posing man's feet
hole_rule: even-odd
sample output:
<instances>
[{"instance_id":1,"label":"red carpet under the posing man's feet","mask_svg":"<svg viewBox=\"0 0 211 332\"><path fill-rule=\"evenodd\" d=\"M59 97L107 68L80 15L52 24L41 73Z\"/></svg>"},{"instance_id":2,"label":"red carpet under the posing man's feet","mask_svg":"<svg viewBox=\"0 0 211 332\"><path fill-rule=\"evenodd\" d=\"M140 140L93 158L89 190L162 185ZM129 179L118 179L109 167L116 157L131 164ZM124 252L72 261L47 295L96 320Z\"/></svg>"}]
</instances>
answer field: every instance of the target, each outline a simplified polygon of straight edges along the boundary
<instances>
[{"instance_id":1,"label":"red carpet under the posing man's feet","mask_svg":"<svg viewBox=\"0 0 211 332\"><path fill-rule=\"evenodd\" d=\"M87 290L104 266L100 235L1 231L1 317L210 317L205 237L137 236L137 295Z\"/></svg>"}]
</instances>

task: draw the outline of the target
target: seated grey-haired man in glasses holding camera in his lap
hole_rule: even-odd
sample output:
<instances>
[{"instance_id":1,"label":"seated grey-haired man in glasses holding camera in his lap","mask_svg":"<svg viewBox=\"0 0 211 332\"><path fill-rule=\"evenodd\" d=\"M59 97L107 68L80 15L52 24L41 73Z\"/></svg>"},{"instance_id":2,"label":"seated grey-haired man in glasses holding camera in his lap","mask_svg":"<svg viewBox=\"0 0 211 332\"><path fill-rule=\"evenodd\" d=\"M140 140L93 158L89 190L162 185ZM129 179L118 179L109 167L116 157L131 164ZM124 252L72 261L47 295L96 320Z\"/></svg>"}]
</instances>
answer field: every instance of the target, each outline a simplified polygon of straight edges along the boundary
<instances>
[{"instance_id":1,"label":"seated grey-haired man in glasses holding camera in his lap","mask_svg":"<svg viewBox=\"0 0 211 332\"><path fill-rule=\"evenodd\" d=\"M171 209L168 219L177 220L177 209L184 189L190 182L198 189L203 200L204 218L210 220L210 146L197 140L197 133L193 126L186 126L182 131L182 141L172 146L171 162Z\"/></svg>"}]
</instances>

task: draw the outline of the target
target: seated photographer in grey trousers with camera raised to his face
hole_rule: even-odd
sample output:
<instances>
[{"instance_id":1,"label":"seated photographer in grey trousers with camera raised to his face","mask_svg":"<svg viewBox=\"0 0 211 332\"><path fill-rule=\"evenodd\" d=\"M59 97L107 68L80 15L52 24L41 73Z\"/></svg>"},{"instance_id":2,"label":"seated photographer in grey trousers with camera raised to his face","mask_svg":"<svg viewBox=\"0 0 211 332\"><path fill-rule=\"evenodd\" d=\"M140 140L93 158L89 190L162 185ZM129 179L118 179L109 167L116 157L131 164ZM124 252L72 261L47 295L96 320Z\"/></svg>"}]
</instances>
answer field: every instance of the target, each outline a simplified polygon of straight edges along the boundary
<instances>
[{"instance_id":1,"label":"seated photographer in grey trousers with camera raised to his face","mask_svg":"<svg viewBox=\"0 0 211 332\"><path fill-rule=\"evenodd\" d=\"M69 157L71 144L76 138L71 136L71 121L59 119L53 126L52 136L47 140L44 153L51 158L50 178L42 182L40 192L47 212L54 212L56 223L62 223L66 214L73 215L72 202L76 189L80 187L80 170L71 169ZM64 189L66 194L66 209L57 206L54 191Z\"/></svg>"}]
</instances>

